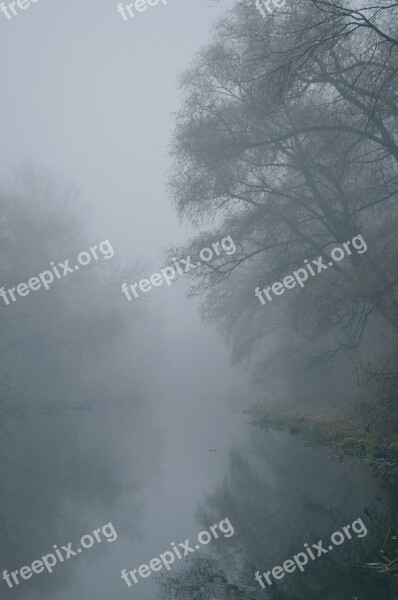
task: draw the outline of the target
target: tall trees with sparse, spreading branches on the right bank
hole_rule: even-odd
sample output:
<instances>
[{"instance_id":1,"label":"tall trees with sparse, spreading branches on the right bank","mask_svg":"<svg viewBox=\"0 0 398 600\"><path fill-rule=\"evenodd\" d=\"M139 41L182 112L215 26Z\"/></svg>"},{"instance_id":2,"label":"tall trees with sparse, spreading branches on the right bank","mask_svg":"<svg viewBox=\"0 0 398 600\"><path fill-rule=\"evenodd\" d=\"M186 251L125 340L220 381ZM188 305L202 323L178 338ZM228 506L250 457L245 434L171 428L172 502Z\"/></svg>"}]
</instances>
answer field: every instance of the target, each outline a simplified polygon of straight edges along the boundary
<instances>
[{"instance_id":1,"label":"tall trees with sparse, spreading branches on the right bank","mask_svg":"<svg viewBox=\"0 0 398 600\"><path fill-rule=\"evenodd\" d=\"M170 180L200 232L184 255L237 245L193 287L234 360L270 398L380 431L398 431L397 26L386 0L238 2L181 77ZM358 235L366 252L255 296Z\"/></svg>"}]
</instances>

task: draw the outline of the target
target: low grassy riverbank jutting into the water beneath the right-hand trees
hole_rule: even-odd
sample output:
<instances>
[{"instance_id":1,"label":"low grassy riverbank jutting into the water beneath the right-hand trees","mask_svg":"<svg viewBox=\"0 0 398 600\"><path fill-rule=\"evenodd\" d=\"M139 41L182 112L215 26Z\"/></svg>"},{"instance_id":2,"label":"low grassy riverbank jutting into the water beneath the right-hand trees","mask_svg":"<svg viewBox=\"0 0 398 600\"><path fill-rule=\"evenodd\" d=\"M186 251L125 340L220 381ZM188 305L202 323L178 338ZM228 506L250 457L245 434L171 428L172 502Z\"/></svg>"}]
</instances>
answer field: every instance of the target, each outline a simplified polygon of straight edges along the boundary
<instances>
[{"instance_id":1,"label":"low grassy riverbank jutting into the water beneath the right-hand trees","mask_svg":"<svg viewBox=\"0 0 398 600\"><path fill-rule=\"evenodd\" d=\"M251 424L282 429L298 435L307 445L331 448L330 460L343 462L346 456L362 460L378 479L398 481L398 435L367 433L354 415L332 411L313 415L282 403L257 403L245 411Z\"/></svg>"}]
</instances>

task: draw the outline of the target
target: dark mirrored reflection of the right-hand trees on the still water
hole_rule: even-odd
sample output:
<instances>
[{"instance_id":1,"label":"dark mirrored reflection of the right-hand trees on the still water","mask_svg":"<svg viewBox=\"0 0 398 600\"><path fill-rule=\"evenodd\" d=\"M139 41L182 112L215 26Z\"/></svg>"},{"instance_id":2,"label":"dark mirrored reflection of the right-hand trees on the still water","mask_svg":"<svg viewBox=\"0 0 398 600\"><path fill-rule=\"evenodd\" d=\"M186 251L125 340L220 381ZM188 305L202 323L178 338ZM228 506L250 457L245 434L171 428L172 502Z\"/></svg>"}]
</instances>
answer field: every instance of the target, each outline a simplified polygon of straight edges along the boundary
<instances>
[{"instance_id":1,"label":"dark mirrored reflection of the right-hand trees on the still water","mask_svg":"<svg viewBox=\"0 0 398 600\"><path fill-rule=\"evenodd\" d=\"M275 600L393 600L392 576L367 567L380 560L389 527L396 523L397 490L381 485L354 460L335 464L327 449L305 447L294 437L252 430L233 448L225 477L197 509L201 527L228 516L235 535L219 540L179 573L160 580L167 600L271 598ZM309 561L262 590L254 573L271 570L303 550L305 542L330 540L361 517L368 534Z\"/></svg>"}]
</instances>

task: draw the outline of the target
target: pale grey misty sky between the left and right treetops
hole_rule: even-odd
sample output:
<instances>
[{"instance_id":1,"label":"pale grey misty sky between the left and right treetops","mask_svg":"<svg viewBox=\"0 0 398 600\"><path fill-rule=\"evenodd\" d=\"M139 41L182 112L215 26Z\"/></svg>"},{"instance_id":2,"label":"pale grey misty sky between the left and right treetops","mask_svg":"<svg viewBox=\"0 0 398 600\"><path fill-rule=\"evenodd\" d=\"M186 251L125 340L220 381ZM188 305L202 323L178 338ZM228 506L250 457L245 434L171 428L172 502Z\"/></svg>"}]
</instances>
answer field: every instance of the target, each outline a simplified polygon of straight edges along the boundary
<instances>
[{"instance_id":1,"label":"pale grey misty sky between the left and right treetops","mask_svg":"<svg viewBox=\"0 0 398 600\"><path fill-rule=\"evenodd\" d=\"M165 192L177 78L228 2L170 0L128 22L110 0L0 14L2 177L24 159L52 168L90 205L94 241L155 266L185 239Z\"/></svg>"}]
</instances>

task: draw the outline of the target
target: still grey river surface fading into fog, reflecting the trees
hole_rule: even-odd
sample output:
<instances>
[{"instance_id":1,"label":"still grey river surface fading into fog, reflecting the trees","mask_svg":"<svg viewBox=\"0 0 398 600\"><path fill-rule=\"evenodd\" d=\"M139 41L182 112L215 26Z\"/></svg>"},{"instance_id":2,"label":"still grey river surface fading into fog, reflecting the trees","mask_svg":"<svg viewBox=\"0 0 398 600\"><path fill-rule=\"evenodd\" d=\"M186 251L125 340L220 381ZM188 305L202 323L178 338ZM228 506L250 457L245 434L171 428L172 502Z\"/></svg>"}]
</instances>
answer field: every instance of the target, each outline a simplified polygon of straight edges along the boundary
<instances>
[{"instance_id":1,"label":"still grey river surface fading into fog, reflecting the trees","mask_svg":"<svg viewBox=\"0 0 398 600\"><path fill-rule=\"evenodd\" d=\"M198 329L197 335L207 334ZM53 544L76 546L108 522L118 538L18 588L2 581L0 597L397 598L397 580L366 566L380 562L383 540L397 522L397 487L376 481L355 460L335 463L328 449L249 425L232 369L226 389L221 342L195 354L191 336L192 330L168 338L170 359L156 382L163 391L151 410L148 381L148 398L132 406L104 403L17 421L1 460L2 569L29 565ZM257 570L282 565L304 543L325 540L327 547L333 532L358 518L366 536L353 534L304 572L273 579L265 590L255 581ZM122 569L148 564L170 551L171 542L193 542L224 519L234 534L176 559L167 576L163 568L132 587L121 579ZM396 547L389 556L397 556Z\"/></svg>"}]
</instances>

